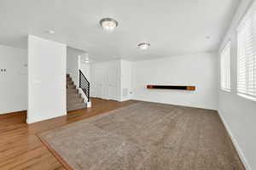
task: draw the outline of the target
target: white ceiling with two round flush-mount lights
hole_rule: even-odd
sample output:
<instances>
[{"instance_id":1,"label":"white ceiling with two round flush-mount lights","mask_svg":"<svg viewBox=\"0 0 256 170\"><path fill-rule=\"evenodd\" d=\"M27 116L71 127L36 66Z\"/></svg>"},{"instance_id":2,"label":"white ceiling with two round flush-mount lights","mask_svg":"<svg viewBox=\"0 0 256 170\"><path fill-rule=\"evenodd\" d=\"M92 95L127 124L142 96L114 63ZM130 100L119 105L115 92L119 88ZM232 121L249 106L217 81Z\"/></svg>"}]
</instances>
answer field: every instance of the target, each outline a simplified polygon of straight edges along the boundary
<instances>
[{"instance_id":1,"label":"white ceiling with two round flush-mount lights","mask_svg":"<svg viewBox=\"0 0 256 170\"><path fill-rule=\"evenodd\" d=\"M215 51L239 1L0 0L0 43L26 48L33 34L86 50L96 61ZM115 31L102 30L105 17L119 21ZM139 42L151 46L142 51Z\"/></svg>"}]
</instances>

